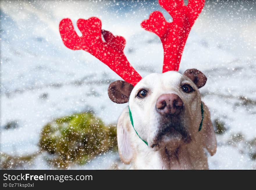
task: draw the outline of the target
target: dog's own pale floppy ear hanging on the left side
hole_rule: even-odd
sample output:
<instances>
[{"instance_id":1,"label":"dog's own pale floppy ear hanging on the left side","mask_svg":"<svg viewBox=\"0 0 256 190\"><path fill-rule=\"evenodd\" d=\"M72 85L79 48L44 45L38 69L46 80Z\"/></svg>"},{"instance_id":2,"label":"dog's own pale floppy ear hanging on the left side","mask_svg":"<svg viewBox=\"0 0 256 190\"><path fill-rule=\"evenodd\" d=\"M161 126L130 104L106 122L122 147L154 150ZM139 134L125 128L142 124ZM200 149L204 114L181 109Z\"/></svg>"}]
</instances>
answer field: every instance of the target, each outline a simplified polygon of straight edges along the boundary
<instances>
[{"instance_id":1,"label":"dog's own pale floppy ear hanging on the left side","mask_svg":"<svg viewBox=\"0 0 256 190\"><path fill-rule=\"evenodd\" d=\"M129 164L133 157L133 149L129 136L131 121L129 119L128 107L124 109L117 122L118 153L125 164Z\"/></svg>"}]
</instances>

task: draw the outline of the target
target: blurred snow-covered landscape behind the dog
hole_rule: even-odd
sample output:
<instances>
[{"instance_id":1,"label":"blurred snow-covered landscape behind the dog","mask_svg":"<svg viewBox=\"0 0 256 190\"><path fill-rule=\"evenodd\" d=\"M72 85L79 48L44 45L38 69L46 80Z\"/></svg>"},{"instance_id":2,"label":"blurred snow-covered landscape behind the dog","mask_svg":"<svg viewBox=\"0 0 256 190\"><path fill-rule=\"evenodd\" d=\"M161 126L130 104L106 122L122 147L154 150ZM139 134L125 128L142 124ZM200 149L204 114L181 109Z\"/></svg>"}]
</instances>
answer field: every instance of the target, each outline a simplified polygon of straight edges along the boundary
<instances>
[{"instance_id":1,"label":"blurred snow-covered landscape behind the dog","mask_svg":"<svg viewBox=\"0 0 256 190\"><path fill-rule=\"evenodd\" d=\"M195 67L207 76L200 90L203 101L212 120L225 124L224 134L217 134L210 169L256 169L250 158L256 145L248 145L256 138L256 4L225 2L206 2L179 71ZM160 40L140 27L153 10L164 12L156 1L1 1L1 152L15 156L38 151L42 126L73 112L93 110L105 123L115 123L126 105L111 102L107 88L120 78L89 53L65 47L58 24L65 17L73 23L99 17L103 29L125 37L129 62L146 76L161 72L163 63ZM17 127L4 129L12 121ZM232 138L237 135L242 137ZM25 168L51 168L44 156ZM70 168L126 166L117 154L106 153Z\"/></svg>"}]
</instances>

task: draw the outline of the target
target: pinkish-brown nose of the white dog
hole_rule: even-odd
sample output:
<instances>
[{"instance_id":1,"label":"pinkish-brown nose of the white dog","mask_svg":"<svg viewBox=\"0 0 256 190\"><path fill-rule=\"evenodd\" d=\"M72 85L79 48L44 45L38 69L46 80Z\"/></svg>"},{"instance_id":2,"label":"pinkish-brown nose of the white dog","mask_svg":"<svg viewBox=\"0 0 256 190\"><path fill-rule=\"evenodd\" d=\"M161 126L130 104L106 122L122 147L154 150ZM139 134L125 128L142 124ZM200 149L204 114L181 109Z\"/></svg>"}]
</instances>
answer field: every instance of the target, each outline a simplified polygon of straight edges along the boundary
<instances>
[{"instance_id":1,"label":"pinkish-brown nose of the white dog","mask_svg":"<svg viewBox=\"0 0 256 190\"><path fill-rule=\"evenodd\" d=\"M156 109L161 115L179 115L183 109L183 102L176 94L162 94L157 99Z\"/></svg>"}]
</instances>

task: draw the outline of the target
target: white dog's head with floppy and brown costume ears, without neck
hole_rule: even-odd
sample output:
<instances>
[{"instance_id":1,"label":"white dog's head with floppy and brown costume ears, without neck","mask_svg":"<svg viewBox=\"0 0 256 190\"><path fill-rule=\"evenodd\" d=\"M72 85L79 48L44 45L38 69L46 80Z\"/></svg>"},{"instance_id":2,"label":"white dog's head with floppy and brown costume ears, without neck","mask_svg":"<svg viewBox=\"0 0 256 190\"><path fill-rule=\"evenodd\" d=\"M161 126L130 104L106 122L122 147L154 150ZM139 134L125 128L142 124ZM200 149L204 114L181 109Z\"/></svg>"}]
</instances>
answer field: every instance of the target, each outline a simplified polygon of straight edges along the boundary
<instances>
[{"instance_id":1,"label":"white dog's head with floppy and brown costume ears, without neck","mask_svg":"<svg viewBox=\"0 0 256 190\"><path fill-rule=\"evenodd\" d=\"M216 139L205 105L203 129L202 132L198 131L202 120L198 89L206 81L206 76L196 69L186 70L184 74L175 71L153 73L143 78L135 87L124 81L115 81L110 84L108 94L116 103L129 101L134 129L141 139L148 142L150 149L176 150L179 146L203 138L200 141L213 155L216 151ZM129 135L136 132L131 127L126 110L118 121L118 148L124 162L130 162L132 158Z\"/></svg>"}]
</instances>

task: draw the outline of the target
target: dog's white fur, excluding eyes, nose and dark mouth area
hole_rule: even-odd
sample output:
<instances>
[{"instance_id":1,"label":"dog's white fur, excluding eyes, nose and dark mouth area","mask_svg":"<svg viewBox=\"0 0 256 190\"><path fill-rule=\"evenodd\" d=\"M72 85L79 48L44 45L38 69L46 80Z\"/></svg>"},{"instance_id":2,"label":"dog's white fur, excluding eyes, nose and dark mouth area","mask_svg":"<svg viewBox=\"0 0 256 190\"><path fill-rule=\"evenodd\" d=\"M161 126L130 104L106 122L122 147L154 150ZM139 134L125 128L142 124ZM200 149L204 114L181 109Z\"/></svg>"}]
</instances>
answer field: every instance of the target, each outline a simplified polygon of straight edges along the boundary
<instances>
[{"instance_id":1,"label":"dog's white fur, excluding eyes, nose and dark mouth area","mask_svg":"<svg viewBox=\"0 0 256 190\"><path fill-rule=\"evenodd\" d=\"M181 86L189 84L195 92L185 93ZM136 97L141 89L148 95ZM179 135L164 135L161 140L156 136L161 128L161 116L156 111L156 102L160 95L177 94L184 103L181 122L191 137L184 142ZM207 151L212 156L216 152L216 137L207 106L204 107L204 120L201 131L201 96L197 86L186 76L169 71L163 74L153 73L143 78L134 87L129 98L134 128L148 146L137 136L126 107L118 119L117 138L120 158L132 163L131 169L208 169ZM157 146L152 147L154 144Z\"/></svg>"}]
</instances>

